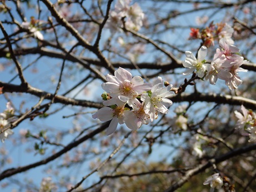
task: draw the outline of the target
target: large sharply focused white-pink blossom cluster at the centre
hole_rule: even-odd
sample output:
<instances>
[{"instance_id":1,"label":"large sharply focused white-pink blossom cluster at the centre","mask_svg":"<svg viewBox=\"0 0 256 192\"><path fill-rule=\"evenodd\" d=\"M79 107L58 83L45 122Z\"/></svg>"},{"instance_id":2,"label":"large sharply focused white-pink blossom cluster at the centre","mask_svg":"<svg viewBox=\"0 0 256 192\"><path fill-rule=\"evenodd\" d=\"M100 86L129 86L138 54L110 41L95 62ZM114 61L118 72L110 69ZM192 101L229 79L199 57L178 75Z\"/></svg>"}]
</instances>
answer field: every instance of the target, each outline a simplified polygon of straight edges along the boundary
<instances>
[{"instance_id":1,"label":"large sharply focused white-pink blossom cluster at the centre","mask_svg":"<svg viewBox=\"0 0 256 192\"><path fill-rule=\"evenodd\" d=\"M172 85L164 87L163 79L158 77L154 85L144 83L139 76L132 77L128 70L119 67L113 75L107 74L107 83L102 88L107 93L102 95L103 107L92 115L102 122L111 120L107 135L112 134L119 124L126 124L129 129L138 129L157 119L158 112L166 114L172 101L167 99L173 93Z\"/></svg>"}]
</instances>

